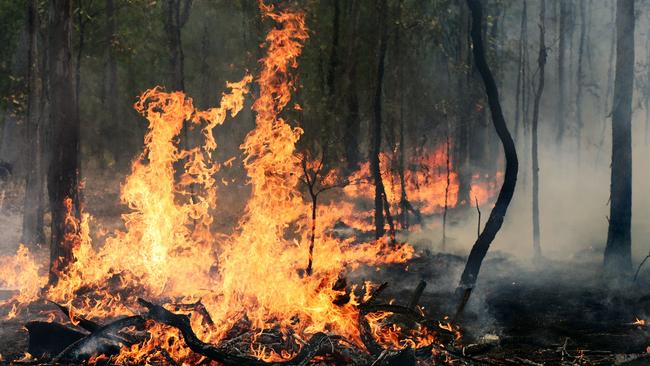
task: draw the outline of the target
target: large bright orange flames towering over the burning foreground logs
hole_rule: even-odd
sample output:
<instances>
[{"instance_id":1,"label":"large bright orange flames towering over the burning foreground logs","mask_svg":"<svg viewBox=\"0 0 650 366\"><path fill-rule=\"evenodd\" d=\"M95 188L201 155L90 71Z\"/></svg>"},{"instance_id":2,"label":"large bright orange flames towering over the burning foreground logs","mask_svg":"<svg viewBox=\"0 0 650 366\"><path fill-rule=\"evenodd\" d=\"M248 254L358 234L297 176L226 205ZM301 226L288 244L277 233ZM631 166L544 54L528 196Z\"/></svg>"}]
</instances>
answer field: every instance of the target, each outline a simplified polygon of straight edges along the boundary
<instances>
[{"instance_id":1,"label":"large bright orange flames towering over the burning foreground logs","mask_svg":"<svg viewBox=\"0 0 650 366\"><path fill-rule=\"evenodd\" d=\"M73 256L59 260L66 266L58 268L56 285L41 295L46 283L40 275L43 269L22 246L16 256L0 259L2 284L19 290L12 299L14 306L43 296L68 307L72 321L79 314L102 322L133 315L137 297L166 302L172 311L177 310L174 304L200 301L211 322L200 312L185 312L191 313L192 328L201 340L217 344L245 324L251 331L250 354L267 361L292 357L300 340L316 332L336 333L362 345L355 287L346 289L337 282L345 271L361 264L406 261L414 255L413 248L389 245L383 239L360 244L353 238L335 238L326 230L335 217L321 209L313 273L305 275L311 232L310 206L298 187L296 143L302 130L292 127L281 112L291 101L295 85L291 71L298 66L308 32L303 13L259 5L277 27L266 37L267 55L255 80L256 127L241 145L251 194L237 231L225 238L211 232L219 220L215 175L222 168L212 159L217 148L213 129L241 111L252 76L228 83L230 91L219 106L208 110L196 109L181 91L155 87L134 105L149 130L144 150L121 187L120 199L129 209L122 216L125 229L108 234L95 246L92 217L82 213L77 219L72 201L66 200L65 245L71 246ZM200 129L202 136L200 145L187 150L179 147L185 124ZM349 301L336 301L346 296ZM115 361L149 363L172 357L200 362L177 330L152 321L146 328L151 336L123 348ZM265 348L261 340L269 330L277 330L283 343L295 347ZM428 336L414 342L425 341ZM404 344L400 340L396 346ZM91 361L102 359L98 355Z\"/></svg>"}]
</instances>

